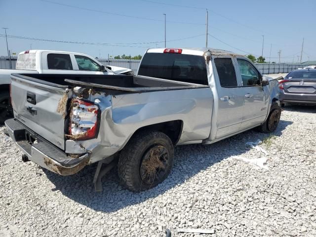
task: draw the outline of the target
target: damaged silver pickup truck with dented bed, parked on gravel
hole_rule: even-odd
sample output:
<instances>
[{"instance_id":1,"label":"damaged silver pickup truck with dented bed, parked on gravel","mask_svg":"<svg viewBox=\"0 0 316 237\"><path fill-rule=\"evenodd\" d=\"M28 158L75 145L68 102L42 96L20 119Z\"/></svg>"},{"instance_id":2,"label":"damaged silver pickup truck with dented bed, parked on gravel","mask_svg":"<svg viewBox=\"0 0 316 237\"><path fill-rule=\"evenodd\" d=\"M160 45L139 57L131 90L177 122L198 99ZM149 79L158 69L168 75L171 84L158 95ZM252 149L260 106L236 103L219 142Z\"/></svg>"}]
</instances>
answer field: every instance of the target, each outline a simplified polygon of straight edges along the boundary
<instances>
[{"instance_id":1,"label":"damaged silver pickup truck with dented bed, parked on gravel","mask_svg":"<svg viewBox=\"0 0 316 237\"><path fill-rule=\"evenodd\" d=\"M12 74L7 132L41 167L60 175L98 162L118 166L138 192L170 173L174 146L211 144L280 119L277 80L242 55L209 48L148 49L136 76Z\"/></svg>"}]
</instances>

